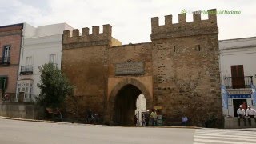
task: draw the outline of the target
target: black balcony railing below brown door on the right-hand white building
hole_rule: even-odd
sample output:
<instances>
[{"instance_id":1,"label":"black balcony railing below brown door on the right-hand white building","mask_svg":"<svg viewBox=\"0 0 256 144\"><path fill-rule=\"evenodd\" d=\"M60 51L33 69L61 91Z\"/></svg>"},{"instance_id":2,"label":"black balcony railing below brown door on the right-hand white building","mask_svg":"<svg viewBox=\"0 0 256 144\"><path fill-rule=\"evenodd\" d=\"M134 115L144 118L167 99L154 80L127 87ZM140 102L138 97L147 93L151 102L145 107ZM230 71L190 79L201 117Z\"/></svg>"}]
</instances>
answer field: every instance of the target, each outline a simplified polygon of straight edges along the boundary
<instances>
[{"instance_id":1,"label":"black balcony railing below brown door on the right-hand white building","mask_svg":"<svg viewBox=\"0 0 256 144\"><path fill-rule=\"evenodd\" d=\"M253 83L253 76L226 77L225 83L227 89L250 88Z\"/></svg>"}]
</instances>

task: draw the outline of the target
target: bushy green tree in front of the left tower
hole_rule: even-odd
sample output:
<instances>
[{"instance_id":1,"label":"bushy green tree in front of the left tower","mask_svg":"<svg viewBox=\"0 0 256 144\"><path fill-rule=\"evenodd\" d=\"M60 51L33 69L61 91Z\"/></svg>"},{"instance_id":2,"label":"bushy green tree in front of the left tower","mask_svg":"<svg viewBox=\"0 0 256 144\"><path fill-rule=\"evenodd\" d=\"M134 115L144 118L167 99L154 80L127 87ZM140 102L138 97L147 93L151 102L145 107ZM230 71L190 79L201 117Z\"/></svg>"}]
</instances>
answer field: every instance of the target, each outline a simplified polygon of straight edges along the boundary
<instances>
[{"instance_id":1,"label":"bushy green tree in front of the left tower","mask_svg":"<svg viewBox=\"0 0 256 144\"><path fill-rule=\"evenodd\" d=\"M62 106L66 96L73 94L74 87L53 63L39 66L39 71L41 75L40 83L38 83L40 89L38 103L51 108Z\"/></svg>"}]
</instances>

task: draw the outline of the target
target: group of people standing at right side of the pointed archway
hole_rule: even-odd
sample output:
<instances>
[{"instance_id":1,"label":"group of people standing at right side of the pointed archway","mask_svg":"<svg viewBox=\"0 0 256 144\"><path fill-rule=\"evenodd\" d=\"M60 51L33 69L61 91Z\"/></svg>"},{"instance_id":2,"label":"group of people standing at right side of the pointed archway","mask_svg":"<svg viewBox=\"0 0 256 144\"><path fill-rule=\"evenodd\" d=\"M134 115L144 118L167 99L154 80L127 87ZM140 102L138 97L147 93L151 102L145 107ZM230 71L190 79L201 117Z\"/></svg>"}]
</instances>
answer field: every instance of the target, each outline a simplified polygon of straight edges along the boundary
<instances>
[{"instance_id":1,"label":"group of people standing at right side of the pointed archway","mask_svg":"<svg viewBox=\"0 0 256 144\"><path fill-rule=\"evenodd\" d=\"M150 110L146 110L146 113L142 115L142 126L157 126L157 118L156 110L152 109L151 112ZM138 118L134 115L134 125L136 126L137 123Z\"/></svg>"}]
</instances>

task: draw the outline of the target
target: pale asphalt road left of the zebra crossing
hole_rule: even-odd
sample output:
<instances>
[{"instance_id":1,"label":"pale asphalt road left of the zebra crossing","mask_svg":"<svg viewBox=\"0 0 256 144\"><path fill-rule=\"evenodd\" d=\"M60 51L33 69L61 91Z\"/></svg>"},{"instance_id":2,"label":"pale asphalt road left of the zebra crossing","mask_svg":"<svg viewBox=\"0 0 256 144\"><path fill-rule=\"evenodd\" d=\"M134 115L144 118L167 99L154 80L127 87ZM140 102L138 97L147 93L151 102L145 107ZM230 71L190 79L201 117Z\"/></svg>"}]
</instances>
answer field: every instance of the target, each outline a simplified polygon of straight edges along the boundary
<instances>
[{"instance_id":1,"label":"pale asphalt road left of the zebra crossing","mask_svg":"<svg viewBox=\"0 0 256 144\"><path fill-rule=\"evenodd\" d=\"M193 143L194 129L88 126L0 118L0 144Z\"/></svg>"}]
</instances>

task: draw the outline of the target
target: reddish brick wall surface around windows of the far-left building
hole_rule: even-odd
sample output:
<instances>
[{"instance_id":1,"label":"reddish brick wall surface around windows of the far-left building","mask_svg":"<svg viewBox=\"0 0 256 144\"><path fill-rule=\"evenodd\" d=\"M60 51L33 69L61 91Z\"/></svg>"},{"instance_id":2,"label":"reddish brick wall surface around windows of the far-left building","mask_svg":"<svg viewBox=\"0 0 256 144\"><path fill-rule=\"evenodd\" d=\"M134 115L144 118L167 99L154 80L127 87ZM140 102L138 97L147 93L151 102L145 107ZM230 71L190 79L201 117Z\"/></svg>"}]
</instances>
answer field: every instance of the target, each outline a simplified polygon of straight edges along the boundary
<instances>
[{"instance_id":1,"label":"reddish brick wall surface around windows of the far-left building","mask_svg":"<svg viewBox=\"0 0 256 144\"><path fill-rule=\"evenodd\" d=\"M0 75L7 76L7 93L15 93L20 58L22 26L0 27L0 57L4 46L10 46L10 65L0 65Z\"/></svg>"}]
</instances>

